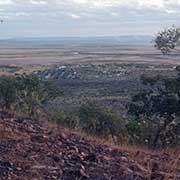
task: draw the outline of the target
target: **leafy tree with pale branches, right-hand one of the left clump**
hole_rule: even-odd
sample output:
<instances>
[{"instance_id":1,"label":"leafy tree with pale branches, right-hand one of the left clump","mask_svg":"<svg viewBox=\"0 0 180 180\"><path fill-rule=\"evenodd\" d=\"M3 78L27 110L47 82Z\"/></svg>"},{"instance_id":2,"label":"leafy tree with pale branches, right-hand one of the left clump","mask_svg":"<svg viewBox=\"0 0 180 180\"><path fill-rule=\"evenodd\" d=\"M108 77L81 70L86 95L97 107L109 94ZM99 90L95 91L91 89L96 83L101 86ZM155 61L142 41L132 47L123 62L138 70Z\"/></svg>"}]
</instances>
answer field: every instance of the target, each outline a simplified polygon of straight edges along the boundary
<instances>
[{"instance_id":1,"label":"leafy tree with pale branches, right-hand one of the left clump","mask_svg":"<svg viewBox=\"0 0 180 180\"><path fill-rule=\"evenodd\" d=\"M20 107L25 107L30 117L35 117L38 110L44 110L43 105L62 94L62 90L55 84L42 81L36 75L17 76L16 87Z\"/></svg>"}]
</instances>

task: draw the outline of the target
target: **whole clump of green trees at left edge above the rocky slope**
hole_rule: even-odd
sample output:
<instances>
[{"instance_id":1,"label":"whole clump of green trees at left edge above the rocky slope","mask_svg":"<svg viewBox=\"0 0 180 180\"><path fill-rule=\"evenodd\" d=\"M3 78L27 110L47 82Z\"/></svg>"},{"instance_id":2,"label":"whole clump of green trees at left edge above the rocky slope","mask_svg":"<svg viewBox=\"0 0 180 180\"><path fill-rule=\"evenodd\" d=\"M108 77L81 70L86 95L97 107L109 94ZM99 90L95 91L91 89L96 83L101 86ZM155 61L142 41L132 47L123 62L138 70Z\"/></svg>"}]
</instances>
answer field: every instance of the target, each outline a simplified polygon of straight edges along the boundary
<instances>
[{"instance_id":1,"label":"whole clump of green trees at left edge above the rocky slope","mask_svg":"<svg viewBox=\"0 0 180 180\"><path fill-rule=\"evenodd\" d=\"M44 105L62 94L54 83L42 81L36 75L0 76L2 110L23 109L30 117L44 111Z\"/></svg>"}]
</instances>

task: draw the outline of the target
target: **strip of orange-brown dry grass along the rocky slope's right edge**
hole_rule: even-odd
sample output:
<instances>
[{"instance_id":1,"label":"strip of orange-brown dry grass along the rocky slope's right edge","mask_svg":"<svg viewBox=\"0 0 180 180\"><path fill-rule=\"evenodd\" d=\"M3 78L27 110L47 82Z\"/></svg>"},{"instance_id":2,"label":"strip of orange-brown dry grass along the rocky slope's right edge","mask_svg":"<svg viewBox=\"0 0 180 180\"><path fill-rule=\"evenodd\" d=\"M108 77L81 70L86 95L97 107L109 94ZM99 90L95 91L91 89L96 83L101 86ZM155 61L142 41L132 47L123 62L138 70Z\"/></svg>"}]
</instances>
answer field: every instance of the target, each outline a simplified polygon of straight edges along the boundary
<instances>
[{"instance_id":1,"label":"strip of orange-brown dry grass along the rocky slope's right edge","mask_svg":"<svg viewBox=\"0 0 180 180\"><path fill-rule=\"evenodd\" d=\"M66 131L69 131L66 129ZM73 134L85 138L97 145L105 145L112 149L118 149L129 154L129 160L143 165L148 171L147 179L151 179L153 162L166 173L165 180L178 180L177 172L180 172L180 150L179 148L150 150L146 146L132 146L128 144L117 145L113 141L88 135L80 131L71 131ZM173 178L172 178L173 177Z\"/></svg>"}]
</instances>

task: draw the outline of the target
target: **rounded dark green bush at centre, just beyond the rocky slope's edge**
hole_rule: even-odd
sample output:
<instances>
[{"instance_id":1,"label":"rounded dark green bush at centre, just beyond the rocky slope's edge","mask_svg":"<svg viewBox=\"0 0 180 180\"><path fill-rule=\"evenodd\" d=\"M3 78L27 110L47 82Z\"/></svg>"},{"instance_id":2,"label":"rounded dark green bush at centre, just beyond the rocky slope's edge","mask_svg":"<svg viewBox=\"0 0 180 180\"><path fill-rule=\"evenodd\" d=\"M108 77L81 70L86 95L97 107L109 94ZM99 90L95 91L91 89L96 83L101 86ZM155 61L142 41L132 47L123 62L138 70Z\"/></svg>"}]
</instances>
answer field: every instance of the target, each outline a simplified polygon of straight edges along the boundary
<instances>
[{"instance_id":1,"label":"rounded dark green bush at centre, just beyond the rocky slope's edge","mask_svg":"<svg viewBox=\"0 0 180 180\"><path fill-rule=\"evenodd\" d=\"M125 122L111 109L94 103L87 103L79 109L80 128L102 137L121 137Z\"/></svg>"}]
</instances>

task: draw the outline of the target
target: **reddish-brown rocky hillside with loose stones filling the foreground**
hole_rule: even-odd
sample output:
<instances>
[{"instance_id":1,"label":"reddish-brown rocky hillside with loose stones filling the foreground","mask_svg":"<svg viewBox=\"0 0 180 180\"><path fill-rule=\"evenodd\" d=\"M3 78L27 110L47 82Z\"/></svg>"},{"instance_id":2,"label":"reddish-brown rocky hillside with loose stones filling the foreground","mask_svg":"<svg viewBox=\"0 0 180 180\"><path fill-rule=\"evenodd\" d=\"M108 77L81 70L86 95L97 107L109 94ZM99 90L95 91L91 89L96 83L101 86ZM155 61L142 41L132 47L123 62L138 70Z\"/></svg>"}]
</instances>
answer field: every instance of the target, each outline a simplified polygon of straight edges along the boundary
<instances>
[{"instance_id":1,"label":"reddish-brown rocky hillside with loose stones filling the foreground","mask_svg":"<svg viewBox=\"0 0 180 180\"><path fill-rule=\"evenodd\" d=\"M28 118L0 119L0 180L179 180L180 157L113 148Z\"/></svg>"}]
</instances>

